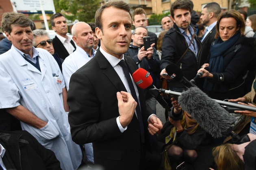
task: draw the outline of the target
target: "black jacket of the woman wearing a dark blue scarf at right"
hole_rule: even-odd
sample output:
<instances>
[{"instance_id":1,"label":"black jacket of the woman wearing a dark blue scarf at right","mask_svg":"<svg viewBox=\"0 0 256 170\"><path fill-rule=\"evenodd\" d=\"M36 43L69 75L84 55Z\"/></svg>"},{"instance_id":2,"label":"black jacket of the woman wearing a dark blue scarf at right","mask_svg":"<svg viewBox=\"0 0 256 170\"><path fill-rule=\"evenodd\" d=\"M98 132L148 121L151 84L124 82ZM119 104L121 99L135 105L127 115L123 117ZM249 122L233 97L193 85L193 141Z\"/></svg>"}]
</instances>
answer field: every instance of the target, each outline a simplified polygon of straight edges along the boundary
<instances>
[{"instance_id":1,"label":"black jacket of the woman wearing a dark blue scarf at right","mask_svg":"<svg viewBox=\"0 0 256 170\"><path fill-rule=\"evenodd\" d=\"M236 49L237 45L241 45L239 49ZM210 98L224 100L224 99L236 99L244 96L247 92L245 91L245 85L247 82L252 82L255 79L250 76L249 80L245 81L243 78L250 67L255 67L255 38L247 38L240 36L236 43L227 49L223 53L223 72L211 72L213 79L207 79L210 83L225 84L228 87L227 92L217 91L205 91L208 93ZM223 77L221 79L220 77Z\"/></svg>"}]
</instances>

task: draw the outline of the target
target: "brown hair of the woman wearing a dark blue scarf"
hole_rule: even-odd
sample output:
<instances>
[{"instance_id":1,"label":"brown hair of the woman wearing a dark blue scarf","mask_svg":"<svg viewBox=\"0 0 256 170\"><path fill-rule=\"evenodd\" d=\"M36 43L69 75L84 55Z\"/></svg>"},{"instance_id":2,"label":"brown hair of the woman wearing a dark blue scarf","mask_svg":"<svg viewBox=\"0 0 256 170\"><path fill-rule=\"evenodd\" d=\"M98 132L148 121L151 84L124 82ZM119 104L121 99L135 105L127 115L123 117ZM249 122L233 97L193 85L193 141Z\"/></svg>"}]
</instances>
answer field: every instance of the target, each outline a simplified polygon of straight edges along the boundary
<instances>
[{"instance_id":1,"label":"brown hair of the woman wearing a dark blue scarf","mask_svg":"<svg viewBox=\"0 0 256 170\"><path fill-rule=\"evenodd\" d=\"M243 20L242 15L238 11L236 11L234 9L231 9L230 11L225 11L225 12L219 14L219 16L217 18L217 24L216 24L216 28L217 28L216 31L217 32L215 34L215 39L217 39L219 37L219 22L223 18L234 18L236 20L236 28L239 27L241 36L245 35L244 34L244 32L245 32L245 22Z\"/></svg>"}]
</instances>

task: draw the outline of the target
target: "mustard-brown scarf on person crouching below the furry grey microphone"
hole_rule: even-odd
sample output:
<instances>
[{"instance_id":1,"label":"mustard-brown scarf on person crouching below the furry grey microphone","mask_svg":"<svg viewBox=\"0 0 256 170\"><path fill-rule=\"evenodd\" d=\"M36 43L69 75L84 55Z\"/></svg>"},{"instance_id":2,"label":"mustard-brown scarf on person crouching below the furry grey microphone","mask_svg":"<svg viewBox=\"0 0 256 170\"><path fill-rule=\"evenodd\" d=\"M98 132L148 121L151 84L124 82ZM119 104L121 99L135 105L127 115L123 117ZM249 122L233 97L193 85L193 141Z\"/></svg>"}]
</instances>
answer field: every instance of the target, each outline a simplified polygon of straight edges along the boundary
<instances>
[{"instance_id":1,"label":"mustard-brown scarf on person crouching below the furry grey microphone","mask_svg":"<svg viewBox=\"0 0 256 170\"><path fill-rule=\"evenodd\" d=\"M198 123L191 118L191 115L189 115L186 111L183 112L182 119L180 120L180 123L184 130L186 130L187 134L191 135L195 133L195 130L198 127ZM171 128L171 133L169 136L165 137L165 143L167 144L172 138L176 139L177 130L174 126ZM174 141L173 140L173 141Z\"/></svg>"}]
</instances>

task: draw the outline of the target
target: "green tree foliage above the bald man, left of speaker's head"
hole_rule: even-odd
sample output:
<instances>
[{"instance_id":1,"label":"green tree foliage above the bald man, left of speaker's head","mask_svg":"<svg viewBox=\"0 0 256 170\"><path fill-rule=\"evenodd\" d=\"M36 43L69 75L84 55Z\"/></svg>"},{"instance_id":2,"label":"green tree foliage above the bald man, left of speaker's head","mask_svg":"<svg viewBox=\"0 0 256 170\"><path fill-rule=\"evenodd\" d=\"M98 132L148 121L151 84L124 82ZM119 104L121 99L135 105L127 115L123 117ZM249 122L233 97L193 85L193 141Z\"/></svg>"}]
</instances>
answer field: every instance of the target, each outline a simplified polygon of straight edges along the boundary
<instances>
[{"instance_id":1,"label":"green tree foliage above the bald man, left of speaker's head","mask_svg":"<svg viewBox=\"0 0 256 170\"><path fill-rule=\"evenodd\" d=\"M56 2L56 3L55 3ZM54 0L56 12L65 10L72 15L65 15L69 20L94 22L94 16L100 7L100 0Z\"/></svg>"}]
</instances>

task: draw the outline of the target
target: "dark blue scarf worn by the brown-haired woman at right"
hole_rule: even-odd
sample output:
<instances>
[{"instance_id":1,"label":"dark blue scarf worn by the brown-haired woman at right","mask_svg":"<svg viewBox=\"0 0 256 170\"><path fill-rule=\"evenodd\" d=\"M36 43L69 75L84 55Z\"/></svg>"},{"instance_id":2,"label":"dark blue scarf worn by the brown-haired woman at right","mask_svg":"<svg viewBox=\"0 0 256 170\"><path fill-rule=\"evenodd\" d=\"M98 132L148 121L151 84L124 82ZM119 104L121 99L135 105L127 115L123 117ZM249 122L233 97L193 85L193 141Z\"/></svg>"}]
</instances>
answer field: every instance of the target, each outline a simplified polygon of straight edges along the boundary
<instances>
[{"instance_id":1,"label":"dark blue scarf worn by the brown-haired woman at right","mask_svg":"<svg viewBox=\"0 0 256 170\"><path fill-rule=\"evenodd\" d=\"M220 37L215 40L215 43L211 45L210 48L209 72L223 72L223 53L230 49L230 47L236 43L239 37L240 30L225 42L223 42ZM228 91L228 85L223 83L210 83L208 79L205 79L204 89L207 89L208 91L226 92Z\"/></svg>"}]
</instances>

